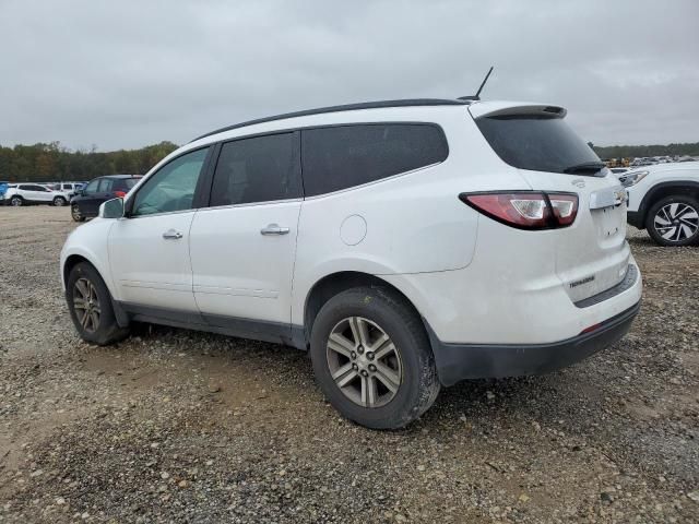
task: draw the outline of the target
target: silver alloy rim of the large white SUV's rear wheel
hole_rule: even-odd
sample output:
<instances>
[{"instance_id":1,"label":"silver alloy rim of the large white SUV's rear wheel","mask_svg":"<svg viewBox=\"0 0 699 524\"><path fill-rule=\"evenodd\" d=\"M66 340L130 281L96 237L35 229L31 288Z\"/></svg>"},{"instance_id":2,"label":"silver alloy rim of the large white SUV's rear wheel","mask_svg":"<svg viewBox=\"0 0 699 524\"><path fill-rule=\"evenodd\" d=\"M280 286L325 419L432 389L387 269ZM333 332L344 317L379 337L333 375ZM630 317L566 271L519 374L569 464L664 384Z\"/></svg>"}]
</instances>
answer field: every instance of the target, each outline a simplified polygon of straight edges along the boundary
<instances>
[{"instance_id":1,"label":"silver alloy rim of the large white SUV's rear wheel","mask_svg":"<svg viewBox=\"0 0 699 524\"><path fill-rule=\"evenodd\" d=\"M355 404L375 408L395 397L403 378L401 355L376 322L341 320L330 332L325 354L335 385Z\"/></svg>"}]
</instances>

